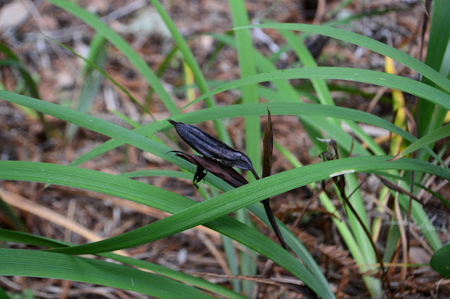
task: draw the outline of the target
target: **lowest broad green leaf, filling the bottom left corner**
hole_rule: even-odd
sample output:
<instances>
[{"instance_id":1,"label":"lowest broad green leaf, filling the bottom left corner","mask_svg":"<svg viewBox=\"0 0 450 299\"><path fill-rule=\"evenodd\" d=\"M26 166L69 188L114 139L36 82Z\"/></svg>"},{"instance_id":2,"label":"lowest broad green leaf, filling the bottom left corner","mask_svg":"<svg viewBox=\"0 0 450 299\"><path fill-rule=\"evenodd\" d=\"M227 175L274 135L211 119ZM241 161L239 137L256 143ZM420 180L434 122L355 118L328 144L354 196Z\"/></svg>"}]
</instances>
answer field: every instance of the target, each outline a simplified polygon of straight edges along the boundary
<instances>
[{"instance_id":1,"label":"lowest broad green leaf, filling the bottom left corner","mask_svg":"<svg viewBox=\"0 0 450 299\"><path fill-rule=\"evenodd\" d=\"M196 288L149 272L103 260L44 251L0 248L0 275L82 281L158 298L176 298L179 294L211 298Z\"/></svg>"}]
</instances>

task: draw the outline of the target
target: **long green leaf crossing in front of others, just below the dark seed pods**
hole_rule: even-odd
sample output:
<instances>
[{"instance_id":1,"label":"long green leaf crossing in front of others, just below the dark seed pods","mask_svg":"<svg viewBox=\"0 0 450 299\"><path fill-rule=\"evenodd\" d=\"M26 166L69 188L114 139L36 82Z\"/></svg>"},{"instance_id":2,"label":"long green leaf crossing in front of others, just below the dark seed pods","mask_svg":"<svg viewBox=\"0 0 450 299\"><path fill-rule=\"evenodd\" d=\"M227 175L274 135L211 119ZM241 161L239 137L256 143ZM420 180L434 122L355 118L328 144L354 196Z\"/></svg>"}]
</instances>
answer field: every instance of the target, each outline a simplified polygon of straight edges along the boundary
<instances>
[{"instance_id":1,"label":"long green leaf crossing in front of others, just below the dark seed pods","mask_svg":"<svg viewBox=\"0 0 450 299\"><path fill-rule=\"evenodd\" d=\"M122 249L124 248L120 244L122 241L125 241L127 244L133 244L133 246L145 244L149 241L155 241L187 230L196 225L210 222L223 215L232 213L239 208L244 208L257 201L261 201L266 197L273 197L311 182L326 180L342 173L370 172L388 169L414 170L435 174L446 180L450 179L450 171L446 171L444 168L433 164L409 158L387 161L390 158L387 156L354 157L295 168L230 190L201 204L186 208L168 218L154 222L146 227L141 227L133 232L122 234L119 237L77 247L55 249L54 251L72 254L98 253ZM11 163L11 161L1 162L1 164L7 163ZM31 162L23 163L30 164ZM2 177L8 178L8 174L4 174ZM142 232L145 232L145 235Z\"/></svg>"}]
</instances>

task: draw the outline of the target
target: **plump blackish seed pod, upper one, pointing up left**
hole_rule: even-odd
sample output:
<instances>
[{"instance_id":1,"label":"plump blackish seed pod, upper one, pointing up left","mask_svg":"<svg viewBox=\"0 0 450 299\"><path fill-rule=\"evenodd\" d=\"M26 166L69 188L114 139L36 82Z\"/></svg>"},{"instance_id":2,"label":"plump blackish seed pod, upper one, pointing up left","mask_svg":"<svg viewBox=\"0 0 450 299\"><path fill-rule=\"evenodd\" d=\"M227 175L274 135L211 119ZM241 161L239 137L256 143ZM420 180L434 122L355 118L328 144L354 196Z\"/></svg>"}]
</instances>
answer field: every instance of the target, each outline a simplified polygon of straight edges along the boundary
<instances>
[{"instance_id":1,"label":"plump blackish seed pod, upper one, pointing up left","mask_svg":"<svg viewBox=\"0 0 450 299\"><path fill-rule=\"evenodd\" d=\"M234 150L221 140L196 126L172 121L172 119L169 119L169 123L174 125L176 133L199 154L218 159L226 166L237 167L255 173L252 161L243 152Z\"/></svg>"}]
</instances>

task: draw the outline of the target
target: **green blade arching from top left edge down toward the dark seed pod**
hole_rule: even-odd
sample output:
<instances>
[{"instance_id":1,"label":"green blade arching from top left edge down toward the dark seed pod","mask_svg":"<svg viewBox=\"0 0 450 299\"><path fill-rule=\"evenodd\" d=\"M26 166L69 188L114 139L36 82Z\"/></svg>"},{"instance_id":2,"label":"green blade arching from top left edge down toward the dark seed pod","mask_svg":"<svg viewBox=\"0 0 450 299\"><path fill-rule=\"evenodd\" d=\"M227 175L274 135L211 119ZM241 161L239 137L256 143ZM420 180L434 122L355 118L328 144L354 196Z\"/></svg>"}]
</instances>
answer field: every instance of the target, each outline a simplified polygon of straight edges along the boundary
<instances>
[{"instance_id":1,"label":"green blade arching from top left edge down toward the dark seed pod","mask_svg":"<svg viewBox=\"0 0 450 299\"><path fill-rule=\"evenodd\" d=\"M147 63L139 57L136 51L127 44L127 41L122 39L119 34L113 32L110 27L106 26L101 20L92 15L88 11L80 8L76 4L67 0L49 0L52 4L63 8L68 13L75 15L77 18L86 22L87 25L93 27L97 30L99 34L102 34L105 39L110 41L111 44L116 46L122 53L129 59L132 65L143 75L148 81L148 84L152 86L153 90L158 93L162 102L164 103L170 114L179 114L179 109L176 107L169 94L162 87L158 77L153 73L153 71L148 67Z\"/></svg>"}]
</instances>

